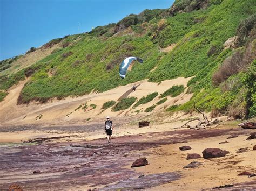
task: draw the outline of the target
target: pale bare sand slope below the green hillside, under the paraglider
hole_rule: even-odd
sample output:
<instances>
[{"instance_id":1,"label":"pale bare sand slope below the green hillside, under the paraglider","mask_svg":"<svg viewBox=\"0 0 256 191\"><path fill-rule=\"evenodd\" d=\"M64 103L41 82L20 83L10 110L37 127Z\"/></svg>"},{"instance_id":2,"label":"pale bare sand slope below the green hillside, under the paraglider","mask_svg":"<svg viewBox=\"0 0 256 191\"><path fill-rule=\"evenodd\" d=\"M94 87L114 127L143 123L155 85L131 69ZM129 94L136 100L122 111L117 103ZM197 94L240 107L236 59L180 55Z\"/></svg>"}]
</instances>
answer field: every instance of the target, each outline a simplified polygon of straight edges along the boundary
<instances>
[{"instance_id":1,"label":"pale bare sand slope below the green hillside, under the paraglider","mask_svg":"<svg viewBox=\"0 0 256 191\"><path fill-rule=\"evenodd\" d=\"M161 84L147 82L147 80L136 82L136 84L140 84L139 88L130 94L130 96L135 96L138 99L143 96L153 93L157 91L160 95L168 88L173 85L184 85L186 87L187 82L191 78L179 77L173 80L163 81ZM168 96L168 100L159 106L157 106L152 112L145 113L143 112L145 108L150 107L151 105L157 103L159 101L159 97L154 98L153 101L139 105L139 107L135 109L126 109L124 111L112 112L111 108L102 112L100 108L102 105L110 100L117 101L120 96L122 96L128 89L131 88L132 84L126 86L119 86L109 91L105 91L104 93L92 93L89 95L81 96L81 97L68 97L65 100L53 100L46 104L38 104L32 102L30 104L25 105L16 105L19 92L24 86L24 81L19 82L19 84L9 90L9 95L5 98L3 102L1 102L1 115L0 115L0 123L2 126L6 125L22 125L22 124L76 124L76 123L88 123L87 119L91 118L91 120L104 119L105 116L111 117L120 117L120 116L145 116L156 114L163 110L163 107L167 107L170 105L185 103L190 100L192 94L185 94L185 92L177 97ZM186 90L185 90L186 91ZM76 108L79 107L80 104L86 103L87 105L96 104L97 108L92 109L89 108L86 111L82 109ZM91 109L91 110L90 110ZM140 110L139 114L134 113L134 111ZM73 111L73 112L72 112ZM72 112L72 114L70 114ZM42 118L35 120L38 115L42 114ZM70 114L70 115L68 115Z\"/></svg>"}]
</instances>

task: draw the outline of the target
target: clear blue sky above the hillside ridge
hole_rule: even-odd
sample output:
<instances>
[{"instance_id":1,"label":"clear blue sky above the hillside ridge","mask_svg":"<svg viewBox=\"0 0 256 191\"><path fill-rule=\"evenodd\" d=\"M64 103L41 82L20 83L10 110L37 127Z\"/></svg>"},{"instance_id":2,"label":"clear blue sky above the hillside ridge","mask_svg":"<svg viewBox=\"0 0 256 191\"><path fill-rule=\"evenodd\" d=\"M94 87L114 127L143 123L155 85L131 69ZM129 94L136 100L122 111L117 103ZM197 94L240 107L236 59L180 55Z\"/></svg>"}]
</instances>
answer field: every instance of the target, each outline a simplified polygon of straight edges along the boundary
<instances>
[{"instance_id":1,"label":"clear blue sky above the hillside ridge","mask_svg":"<svg viewBox=\"0 0 256 191\"><path fill-rule=\"evenodd\" d=\"M173 0L0 0L0 60L54 38L117 23L130 13L145 9L166 9L172 3Z\"/></svg>"}]
</instances>

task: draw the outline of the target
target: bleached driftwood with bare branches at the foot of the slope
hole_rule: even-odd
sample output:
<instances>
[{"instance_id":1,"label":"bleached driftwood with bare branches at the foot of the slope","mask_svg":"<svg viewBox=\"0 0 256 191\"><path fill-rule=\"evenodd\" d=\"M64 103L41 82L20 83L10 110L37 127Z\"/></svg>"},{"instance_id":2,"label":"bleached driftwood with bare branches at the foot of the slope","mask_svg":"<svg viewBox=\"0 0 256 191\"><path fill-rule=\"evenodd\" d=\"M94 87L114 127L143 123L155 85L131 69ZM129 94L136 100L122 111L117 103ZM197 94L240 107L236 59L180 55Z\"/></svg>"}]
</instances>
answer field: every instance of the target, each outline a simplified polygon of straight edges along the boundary
<instances>
[{"instance_id":1,"label":"bleached driftwood with bare branches at the foot of the slope","mask_svg":"<svg viewBox=\"0 0 256 191\"><path fill-rule=\"evenodd\" d=\"M208 119L207 116L204 114L204 112L200 111L200 109L196 107L195 103L194 103L194 108L203 116L203 119L200 119L200 118L190 119L184 125L180 126L180 128L183 128L183 127L190 128L190 129L217 128L217 126L219 126L221 124L223 125L223 123L220 123L220 122L226 122L226 121L229 121L230 119L232 119L232 118L228 118L225 121L221 121L220 119L214 119L212 121L212 118ZM199 121L199 122L196 126L188 125L188 123L190 123L192 121ZM217 125L215 125L215 124L217 124ZM215 126L213 126L213 125L215 125ZM180 128L176 128L176 129L180 129Z\"/></svg>"}]
</instances>

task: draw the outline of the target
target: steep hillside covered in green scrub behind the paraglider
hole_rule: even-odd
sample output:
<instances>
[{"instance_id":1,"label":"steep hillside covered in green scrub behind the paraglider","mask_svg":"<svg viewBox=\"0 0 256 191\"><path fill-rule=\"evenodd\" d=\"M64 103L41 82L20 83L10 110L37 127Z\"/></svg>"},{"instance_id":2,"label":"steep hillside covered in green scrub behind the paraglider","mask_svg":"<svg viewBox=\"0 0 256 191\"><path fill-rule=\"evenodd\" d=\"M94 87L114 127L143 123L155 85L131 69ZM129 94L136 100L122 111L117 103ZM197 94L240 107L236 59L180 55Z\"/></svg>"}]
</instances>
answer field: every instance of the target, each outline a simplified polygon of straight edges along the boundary
<instances>
[{"instance_id":1,"label":"steep hillside covered in green scrub behind the paraglider","mask_svg":"<svg viewBox=\"0 0 256 191\"><path fill-rule=\"evenodd\" d=\"M188 82L191 101L167 110L190 111L196 102L202 110L252 117L256 113L255 22L253 0L177 0L170 9L131 14L117 24L45 44L42 48L56 43L63 48L15 74L0 76L0 100L25 76L31 78L19 104L102 92L143 79L160 82L194 76ZM232 46L224 47L234 36ZM170 52L160 51L171 44L176 46ZM144 64L134 65L120 79L119 64L127 56L138 56ZM1 70L10 64L1 61Z\"/></svg>"}]
</instances>

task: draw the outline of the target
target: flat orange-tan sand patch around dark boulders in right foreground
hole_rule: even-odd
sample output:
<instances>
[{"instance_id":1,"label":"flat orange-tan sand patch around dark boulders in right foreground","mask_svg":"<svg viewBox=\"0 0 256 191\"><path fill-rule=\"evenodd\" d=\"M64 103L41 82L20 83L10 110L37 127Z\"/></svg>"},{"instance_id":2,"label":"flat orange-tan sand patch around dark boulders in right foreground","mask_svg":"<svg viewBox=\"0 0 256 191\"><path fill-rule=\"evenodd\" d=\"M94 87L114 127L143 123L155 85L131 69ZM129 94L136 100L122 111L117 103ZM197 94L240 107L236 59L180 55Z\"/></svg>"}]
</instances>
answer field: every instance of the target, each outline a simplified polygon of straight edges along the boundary
<instances>
[{"instance_id":1,"label":"flat orange-tan sand patch around dark boulders in right foreground","mask_svg":"<svg viewBox=\"0 0 256 191\"><path fill-rule=\"evenodd\" d=\"M250 179L248 176L238 176L239 173L244 171L256 173L256 151L252 150L256 141L255 139L246 140L247 137L238 136L237 138L226 139L227 136L220 136L152 148L145 151L150 153L149 155L142 155L142 157L147 157L150 165L134 169L144 175L181 171L183 178L180 180L148 190L200 190L256 180L255 177ZM225 140L229 143L219 144ZM179 147L185 145L192 149L179 151ZM248 147L248 152L236 153L239 148L245 147ZM205 148L221 148L229 151L230 154L221 158L186 160L187 154L190 153L198 153L203 157L202 151ZM201 162L202 165L196 168L183 169L192 161ZM130 166L127 166L127 168L130 168Z\"/></svg>"}]
</instances>

